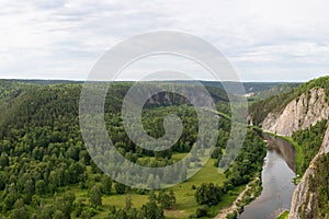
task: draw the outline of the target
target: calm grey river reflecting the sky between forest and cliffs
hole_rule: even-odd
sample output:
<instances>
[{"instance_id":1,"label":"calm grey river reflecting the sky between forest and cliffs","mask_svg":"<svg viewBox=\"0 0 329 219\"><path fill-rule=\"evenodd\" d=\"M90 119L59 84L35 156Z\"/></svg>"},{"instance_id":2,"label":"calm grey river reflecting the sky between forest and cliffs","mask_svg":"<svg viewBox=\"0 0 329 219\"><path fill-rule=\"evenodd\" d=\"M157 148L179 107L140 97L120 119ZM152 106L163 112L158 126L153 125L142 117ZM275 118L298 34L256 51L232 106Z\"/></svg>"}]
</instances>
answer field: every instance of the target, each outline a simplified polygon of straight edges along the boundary
<instances>
[{"instance_id":1,"label":"calm grey river reflecting the sky between forest and cliffs","mask_svg":"<svg viewBox=\"0 0 329 219\"><path fill-rule=\"evenodd\" d=\"M291 208L295 189L295 149L286 140L264 135L268 153L262 170L261 195L246 206L238 219L273 219Z\"/></svg>"}]
</instances>

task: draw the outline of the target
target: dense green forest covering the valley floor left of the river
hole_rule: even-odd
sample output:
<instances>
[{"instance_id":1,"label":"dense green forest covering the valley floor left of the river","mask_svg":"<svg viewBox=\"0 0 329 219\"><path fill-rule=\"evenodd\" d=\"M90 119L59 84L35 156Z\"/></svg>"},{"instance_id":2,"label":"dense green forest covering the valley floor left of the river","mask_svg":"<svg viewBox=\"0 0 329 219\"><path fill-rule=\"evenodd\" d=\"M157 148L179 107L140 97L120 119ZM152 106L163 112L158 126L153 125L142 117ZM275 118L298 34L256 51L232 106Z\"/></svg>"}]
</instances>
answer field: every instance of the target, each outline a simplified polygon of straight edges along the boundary
<instances>
[{"instance_id":1,"label":"dense green forest covering the valley floor left of the river","mask_svg":"<svg viewBox=\"0 0 329 219\"><path fill-rule=\"evenodd\" d=\"M5 80L0 83L0 215L3 218L213 217L220 206L234 200L240 186L260 174L265 147L260 134L249 129L230 169L209 176L214 181L204 178L207 172L217 171L230 130L229 120L209 113L208 118L219 123L218 140L211 165L202 172L204 175L195 175L181 185L190 186L184 187L188 199L181 195L180 187L148 192L125 186L102 173L84 148L78 118L81 84ZM121 120L121 105L129 87L131 83L113 84L105 102L107 131L121 154L146 166L164 166L184 158L197 136L194 107L177 95L168 94L171 101L167 102L163 93L154 96L143 112L145 130L156 138L163 135L162 122L168 114L179 115L184 129L172 148L148 151L128 139ZM216 88L207 90L217 110L230 114L225 92ZM190 158L192 168L201 165L197 155ZM190 201L195 203L190 207L193 212L188 210L188 215L177 216L177 210L186 210L184 206Z\"/></svg>"}]
</instances>

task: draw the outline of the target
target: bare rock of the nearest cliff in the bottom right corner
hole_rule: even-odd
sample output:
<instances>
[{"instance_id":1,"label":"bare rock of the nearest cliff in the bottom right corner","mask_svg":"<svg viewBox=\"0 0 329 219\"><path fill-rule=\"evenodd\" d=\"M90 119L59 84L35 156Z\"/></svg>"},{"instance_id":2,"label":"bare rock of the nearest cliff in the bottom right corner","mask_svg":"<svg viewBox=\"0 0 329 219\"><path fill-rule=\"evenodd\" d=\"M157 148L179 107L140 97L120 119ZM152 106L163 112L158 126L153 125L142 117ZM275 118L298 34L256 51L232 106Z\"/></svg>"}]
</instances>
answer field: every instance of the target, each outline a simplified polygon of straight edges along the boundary
<instances>
[{"instance_id":1,"label":"bare rock of the nearest cliff in the bottom right corner","mask_svg":"<svg viewBox=\"0 0 329 219\"><path fill-rule=\"evenodd\" d=\"M319 205L319 189L318 184L319 177L325 181L325 184L329 184L328 173L329 163L325 166L318 166L320 159L329 152L329 128L326 131L322 146L319 153L313 159L309 168L306 170L300 183L297 185L293 198L292 207L290 212L290 219L318 219L318 218L329 218L329 215L320 216L320 205ZM325 174L319 173L322 171ZM327 177L327 178L324 178ZM328 186L328 185L327 185Z\"/></svg>"}]
</instances>

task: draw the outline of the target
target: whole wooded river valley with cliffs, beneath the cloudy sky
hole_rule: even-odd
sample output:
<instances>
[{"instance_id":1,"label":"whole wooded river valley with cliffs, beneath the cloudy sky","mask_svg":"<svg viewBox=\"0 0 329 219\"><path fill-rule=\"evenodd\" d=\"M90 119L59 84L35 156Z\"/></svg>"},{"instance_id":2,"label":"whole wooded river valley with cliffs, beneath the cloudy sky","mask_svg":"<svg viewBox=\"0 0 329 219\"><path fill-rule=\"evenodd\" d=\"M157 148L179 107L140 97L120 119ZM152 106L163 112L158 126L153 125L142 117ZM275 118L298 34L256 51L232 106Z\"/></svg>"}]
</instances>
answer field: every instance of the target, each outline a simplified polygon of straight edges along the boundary
<instances>
[{"instance_id":1,"label":"whole wooded river valley with cliffs, beneath the cloudy sky","mask_svg":"<svg viewBox=\"0 0 329 219\"><path fill-rule=\"evenodd\" d=\"M248 97L250 110L245 116L250 124L232 163L228 158L234 158L235 151L226 148L231 128L228 97L219 85L205 83L216 103L216 111L206 112L207 119L218 120L219 127L202 134L208 140L214 132L218 135L211 159L183 183L155 192L117 183L93 162L79 128L80 82L0 80L0 218L214 218L225 211L220 217L248 219L260 215L275 218L284 210L290 210L293 219L309 214L326 218L329 189L318 171L328 171L328 143L322 140L328 130L328 80L320 78L299 87L250 83L259 85L249 89L260 93ZM172 148L148 151L129 140L121 118L120 106L131 85L114 83L105 100L105 124L115 148L143 166L166 166L189 158L186 172L178 169L152 175L145 178L146 186L166 182L170 174L186 178L202 165L198 158L209 151L204 141L203 150L190 152L198 135L195 110L180 95L163 92L151 96L141 115L146 132L163 136L168 114L179 115L184 129ZM174 87L188 92L195 85L179 82ZM271 95L271 89L282 92ZM263 137L263 132L277 138ZM313 166L320 168L310 173ZM320 191L305 183L305 177L317 178ZM305 189L317 200L302 197ZM309 205L311 209L305 207Z\"/></svg>"}]
</instances>

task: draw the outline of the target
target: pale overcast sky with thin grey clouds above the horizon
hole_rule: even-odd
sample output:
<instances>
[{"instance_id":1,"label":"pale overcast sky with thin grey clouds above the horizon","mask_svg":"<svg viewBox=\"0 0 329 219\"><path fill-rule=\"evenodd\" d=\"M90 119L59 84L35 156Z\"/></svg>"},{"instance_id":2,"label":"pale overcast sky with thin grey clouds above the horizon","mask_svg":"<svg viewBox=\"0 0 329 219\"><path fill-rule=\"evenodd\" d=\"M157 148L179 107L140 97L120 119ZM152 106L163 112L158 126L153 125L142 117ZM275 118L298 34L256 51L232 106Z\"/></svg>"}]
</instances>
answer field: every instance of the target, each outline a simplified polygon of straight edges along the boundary
<instances>
[{"instance_id":1,"label":"pale overcast sky with thin grey clouds above the horizon","mask_svg":"<svg viewBox=\"0 0 329 219\"><path fill-rule=\"evenodd\" d=\"M242 81L307 81L329 72L328 10L326 0L0 0L0 78L86 80L116 44L170 30L216 46ZM175 67L150 58L145 71L161 61Z\"/></svg>"}]
</instances>

